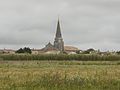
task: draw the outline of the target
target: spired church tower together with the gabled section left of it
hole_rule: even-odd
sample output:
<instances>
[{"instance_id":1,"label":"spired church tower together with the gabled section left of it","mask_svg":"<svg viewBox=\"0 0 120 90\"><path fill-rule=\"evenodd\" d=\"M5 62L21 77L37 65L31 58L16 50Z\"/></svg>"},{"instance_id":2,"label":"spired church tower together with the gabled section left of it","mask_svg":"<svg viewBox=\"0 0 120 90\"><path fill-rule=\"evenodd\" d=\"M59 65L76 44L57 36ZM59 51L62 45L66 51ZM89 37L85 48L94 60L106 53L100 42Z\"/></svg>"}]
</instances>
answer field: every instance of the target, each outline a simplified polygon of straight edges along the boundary
<instances>
[{"instance_id":1,"label":"spired church tower together with the gabled section left of it","mask_svg":"<svg viewBox=\"0 0 120 90\"><path fill-rule=\"evenodd\" d=\"M49 42L39 53L58 54L60 52L64 52L64 41L61 34L60 22L58 20L54 45Z\"/></svg>"}]
</instances>

